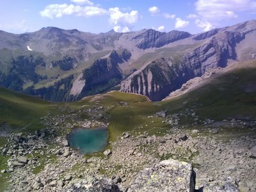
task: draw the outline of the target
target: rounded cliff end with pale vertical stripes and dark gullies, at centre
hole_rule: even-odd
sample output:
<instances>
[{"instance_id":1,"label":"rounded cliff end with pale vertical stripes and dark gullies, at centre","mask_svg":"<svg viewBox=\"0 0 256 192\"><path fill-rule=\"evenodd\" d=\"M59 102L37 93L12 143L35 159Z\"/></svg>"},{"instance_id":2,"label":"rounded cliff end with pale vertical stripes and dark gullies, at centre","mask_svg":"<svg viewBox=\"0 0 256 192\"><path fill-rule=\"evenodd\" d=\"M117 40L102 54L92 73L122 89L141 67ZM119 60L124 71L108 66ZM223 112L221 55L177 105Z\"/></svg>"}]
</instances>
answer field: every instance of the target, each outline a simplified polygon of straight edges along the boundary
<instances>
[{"instance_id":1,"label":"rounded cliff end with pale vertical stripes and dark gullies, at centre","mask_svg":"<svg viewBox=\"0 0 256 192\"><path fill-rule=\"evenodd\" d=\"M151 100L160 100L177 88L177 77L179 71L172 66L172 61L161 58L122 81L120 90L147 95Z\"/></svg>"}]
</instances>

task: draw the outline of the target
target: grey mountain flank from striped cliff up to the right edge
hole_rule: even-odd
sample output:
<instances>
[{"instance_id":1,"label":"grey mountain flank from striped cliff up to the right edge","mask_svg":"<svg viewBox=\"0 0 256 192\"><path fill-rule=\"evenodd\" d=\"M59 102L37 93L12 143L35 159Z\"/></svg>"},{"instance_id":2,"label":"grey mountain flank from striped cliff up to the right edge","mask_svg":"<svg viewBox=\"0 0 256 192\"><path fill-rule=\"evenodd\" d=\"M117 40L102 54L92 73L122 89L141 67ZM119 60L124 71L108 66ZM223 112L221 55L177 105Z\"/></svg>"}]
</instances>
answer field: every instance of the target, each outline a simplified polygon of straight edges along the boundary
<instances>
[{"instance_id":1,"label":"grey mountain flank from striped cliff up to the right edge","mask_svg":"<svg viewBox=\"0 0 256 192\"><path fill-rule=\"evenodd\" d=\"M170 92L180 88L183 83L202 76L208 69L226 67L228 63L237 60L243 61L241 48L238 48L241 44L243 54L251 54L254 57L256 52L252 44L244 44L249 40L256 43L252 36L256 36L255 21L191 36L193 39L204 41L195 49L180 54L179 57L170 56L169 66L172 70L166 62L156 61L157 66L153 61L147 65L148 67L141 68L122 81L120 90L147 95L152 100L164 99ZM148 70L153 65L159 68L154 74ZM166 67L160 67L160 65Z\"/></svg>"}]
</instances>

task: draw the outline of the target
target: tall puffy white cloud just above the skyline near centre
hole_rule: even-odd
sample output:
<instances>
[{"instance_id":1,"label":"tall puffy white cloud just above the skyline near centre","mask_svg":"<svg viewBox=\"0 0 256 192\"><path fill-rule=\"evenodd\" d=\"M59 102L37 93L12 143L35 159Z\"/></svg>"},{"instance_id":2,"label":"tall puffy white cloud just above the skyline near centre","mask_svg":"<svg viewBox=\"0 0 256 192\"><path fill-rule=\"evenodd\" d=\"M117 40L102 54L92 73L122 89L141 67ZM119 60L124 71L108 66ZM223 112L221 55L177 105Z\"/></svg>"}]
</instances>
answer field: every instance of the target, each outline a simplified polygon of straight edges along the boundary
<instances>
[{"instance_id":1,"label":"tall puffy white cloud just above the skyline near centre","mask_svg":"<svg viewBox=\"0 0 256 192\"><path fill-rule=\"evenodd\" d=\"M132 10L130 13L126 12L120 12L118 7L115 8L109 8L109 22L114 25L118 26L131 26L131 24L134 24L139 19L139 13L138 11Z\"/></svg>"}]
</instances>

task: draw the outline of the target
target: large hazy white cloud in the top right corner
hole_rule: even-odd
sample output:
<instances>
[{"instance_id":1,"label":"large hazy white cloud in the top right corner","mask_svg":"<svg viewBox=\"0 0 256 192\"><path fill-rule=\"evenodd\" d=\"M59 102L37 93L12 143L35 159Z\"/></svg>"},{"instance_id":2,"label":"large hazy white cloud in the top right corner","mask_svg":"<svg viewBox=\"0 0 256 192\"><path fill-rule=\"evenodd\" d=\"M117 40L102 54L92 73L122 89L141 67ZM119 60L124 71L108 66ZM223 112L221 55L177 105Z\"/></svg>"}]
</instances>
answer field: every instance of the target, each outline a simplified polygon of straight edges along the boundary
<instances>
[{"instance_id":1,"label":"large hazy white cloud in the top right corner","mask_svg":"<svg viewBox=\"0 0 256 192\"><path fill-rule=\"evenodd\" d=\"M221 20L237 18L236 12L256 10L255 0L198 0L196 11L203 19Z\"/></svg>"}]
</instances>

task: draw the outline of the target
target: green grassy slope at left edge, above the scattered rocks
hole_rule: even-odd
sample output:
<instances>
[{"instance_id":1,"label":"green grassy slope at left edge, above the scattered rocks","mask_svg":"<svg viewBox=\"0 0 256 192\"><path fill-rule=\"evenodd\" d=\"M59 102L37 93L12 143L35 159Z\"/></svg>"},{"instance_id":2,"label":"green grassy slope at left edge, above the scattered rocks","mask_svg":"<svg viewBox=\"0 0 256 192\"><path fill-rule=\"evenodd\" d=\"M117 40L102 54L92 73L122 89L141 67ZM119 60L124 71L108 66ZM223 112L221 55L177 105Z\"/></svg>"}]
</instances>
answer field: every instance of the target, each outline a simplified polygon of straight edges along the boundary
<instances>
[{"instance_id":1,"label":"green grassy slope at left edge, above the scattered rocks","mask_svg":"<svg viewBox=\"0 0 256 192\"><path fill-rule=\"evenodd\" d=\"M13 129L42 128L40 117L47 115L49 102L0 87L0 125L7 123Z\"/></svg>"}]
</instances>

